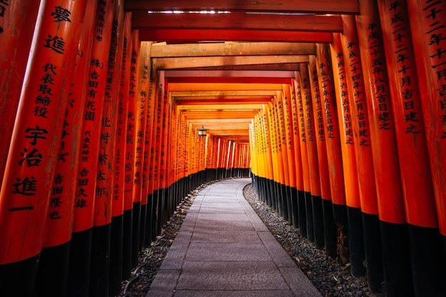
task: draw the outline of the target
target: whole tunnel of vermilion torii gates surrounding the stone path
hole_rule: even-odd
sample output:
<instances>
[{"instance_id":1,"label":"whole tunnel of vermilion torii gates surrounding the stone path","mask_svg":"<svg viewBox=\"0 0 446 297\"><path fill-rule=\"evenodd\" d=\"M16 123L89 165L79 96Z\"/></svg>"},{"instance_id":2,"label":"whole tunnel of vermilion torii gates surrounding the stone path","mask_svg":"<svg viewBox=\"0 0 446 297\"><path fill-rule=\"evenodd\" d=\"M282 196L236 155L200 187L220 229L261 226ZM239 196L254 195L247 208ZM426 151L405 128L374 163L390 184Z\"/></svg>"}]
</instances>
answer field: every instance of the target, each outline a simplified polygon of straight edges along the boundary
<instances>
[{"instance_id":1,"label":"whole tunnel of vermilion torii gates surrounding the stone path","mask_svg":"<svg viewBox=\"0 0 446 297\"><path fill-rule=\"evenodd\" d=\"M446 296L446 1L208 2L0 1L1 295L114 296L251 177L374 293Z\"/></svg>"}]
</instances>

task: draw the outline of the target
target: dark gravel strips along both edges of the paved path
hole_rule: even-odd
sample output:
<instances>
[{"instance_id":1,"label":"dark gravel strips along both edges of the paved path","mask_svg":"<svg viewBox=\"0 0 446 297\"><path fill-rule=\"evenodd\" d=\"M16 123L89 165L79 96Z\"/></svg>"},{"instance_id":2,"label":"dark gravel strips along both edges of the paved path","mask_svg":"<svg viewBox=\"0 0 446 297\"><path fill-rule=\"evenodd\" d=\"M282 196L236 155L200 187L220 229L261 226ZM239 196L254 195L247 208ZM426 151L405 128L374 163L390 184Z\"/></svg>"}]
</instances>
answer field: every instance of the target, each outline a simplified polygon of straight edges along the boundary
<instances>
[{"instance_id":1,"label":"dark gravel strips along both edges of the paved path","mask_svg":"<svg viewBox=\"0 0 446 297\"><path fill-rule=\"evenodd\" d=\"M123 281L117 297L146 296L195 197L200 190L215 182L219 180L202 184L182 200L170 221L162 226L161 234L157 236L156 241L140 252L138 266L133 269L130 278ZM259 201L252 184L244 187L243 194L271 234L322 296L375 296L368 290L366 280L351 276L349 264L344 265L338 259L326 256L324 251L316 249L306 238L300 236L299 229L285 222L276 212Z\"/></svg>"}]
</instances>

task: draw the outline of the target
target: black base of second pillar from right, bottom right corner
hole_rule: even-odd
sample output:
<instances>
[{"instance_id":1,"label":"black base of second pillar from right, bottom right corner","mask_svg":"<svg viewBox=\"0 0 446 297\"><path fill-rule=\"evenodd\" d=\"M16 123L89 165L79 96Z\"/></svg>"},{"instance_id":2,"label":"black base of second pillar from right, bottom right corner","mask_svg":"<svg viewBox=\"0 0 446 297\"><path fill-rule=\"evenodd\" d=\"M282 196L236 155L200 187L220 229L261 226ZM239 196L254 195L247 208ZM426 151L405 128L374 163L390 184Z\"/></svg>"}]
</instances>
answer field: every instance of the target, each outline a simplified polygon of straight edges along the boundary
<instances>
[{"instance_id":1,"label":"black base of second pillar from right, bottom right corner","mask_svg":"<svg viewBox=\"0 0 446 297\"><path fill-rule=\"evenodd\" d=\"M445 255L438 229L408 224L415 296L446 296Z\"/></svg>"}]
</instances>

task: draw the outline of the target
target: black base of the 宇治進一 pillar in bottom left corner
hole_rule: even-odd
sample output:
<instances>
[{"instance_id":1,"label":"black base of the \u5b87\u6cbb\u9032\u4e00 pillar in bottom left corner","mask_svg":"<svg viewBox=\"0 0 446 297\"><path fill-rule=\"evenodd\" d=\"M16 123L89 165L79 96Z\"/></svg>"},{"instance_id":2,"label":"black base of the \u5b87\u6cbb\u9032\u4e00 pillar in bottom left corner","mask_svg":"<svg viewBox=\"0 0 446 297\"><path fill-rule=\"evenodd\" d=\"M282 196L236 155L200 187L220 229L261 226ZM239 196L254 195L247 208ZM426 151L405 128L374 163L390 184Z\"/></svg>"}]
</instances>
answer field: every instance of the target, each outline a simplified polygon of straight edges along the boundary
<instances>
[{"instance_id":1,"label":"black base of the \u5b87\u6cbb\u9032\u4e00 pillar in bottom left corner","mask_svg":"<svg viewBox=\"0 0 446 297\"><path fill-rule=\"evenodd\" d=\"M40 254L22 261L0 265L1 296L31 297L36 283Z\"/></svg>"}]
</instances>

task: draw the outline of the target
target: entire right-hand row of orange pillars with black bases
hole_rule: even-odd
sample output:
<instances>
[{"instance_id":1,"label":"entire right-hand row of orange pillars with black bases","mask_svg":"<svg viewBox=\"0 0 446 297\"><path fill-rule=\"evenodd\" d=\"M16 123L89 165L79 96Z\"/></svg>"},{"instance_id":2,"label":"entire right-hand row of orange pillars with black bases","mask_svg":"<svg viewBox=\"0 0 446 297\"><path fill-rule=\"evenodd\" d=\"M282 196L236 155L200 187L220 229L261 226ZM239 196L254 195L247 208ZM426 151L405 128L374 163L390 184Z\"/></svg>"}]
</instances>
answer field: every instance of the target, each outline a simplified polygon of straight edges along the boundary
<instances>
[{"instance_id":1,"label":"entire right-hand row of orange pillars with black bases","mask_svg":"<svg viewBox=\"0 0 446 297\"><path fill-rule=\"evenodd\" d=\"M446 296L446 1L360 2L252 121L254 188L373 293Z\"/></svg>"}]
</instances>

